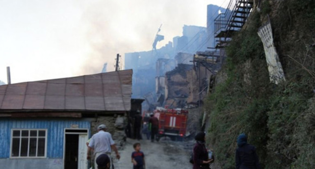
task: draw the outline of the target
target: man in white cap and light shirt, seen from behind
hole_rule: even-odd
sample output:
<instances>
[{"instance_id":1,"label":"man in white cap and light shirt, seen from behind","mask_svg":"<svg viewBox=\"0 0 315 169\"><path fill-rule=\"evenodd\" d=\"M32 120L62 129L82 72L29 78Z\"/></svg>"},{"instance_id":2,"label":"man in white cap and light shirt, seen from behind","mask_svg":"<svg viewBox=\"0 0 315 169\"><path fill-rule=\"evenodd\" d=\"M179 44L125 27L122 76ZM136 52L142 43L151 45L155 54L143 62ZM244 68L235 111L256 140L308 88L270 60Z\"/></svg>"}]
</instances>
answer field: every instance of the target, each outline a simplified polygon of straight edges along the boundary
<instances>
[{"instance_id":1,"label":"man in white cap and light shirt, seen from behind","mask_svg":"<svg viewBox=\"0 0 315 169\"><path fill-rule=\"evenodd\" d=\"M97 127L97 133L94 134L90 140L90 143L87 148L87 159L90 159L91 149L94 149L94 167L97 168L96 159L100 154L108 154L110 155L112 149L116 153L116 157L119 159L120 155L118 153L115 142L112 138L111 133L106 132L106 125L101 124ZM112 162L111 162L112 163Z\"/></svg>"}]
</instances>

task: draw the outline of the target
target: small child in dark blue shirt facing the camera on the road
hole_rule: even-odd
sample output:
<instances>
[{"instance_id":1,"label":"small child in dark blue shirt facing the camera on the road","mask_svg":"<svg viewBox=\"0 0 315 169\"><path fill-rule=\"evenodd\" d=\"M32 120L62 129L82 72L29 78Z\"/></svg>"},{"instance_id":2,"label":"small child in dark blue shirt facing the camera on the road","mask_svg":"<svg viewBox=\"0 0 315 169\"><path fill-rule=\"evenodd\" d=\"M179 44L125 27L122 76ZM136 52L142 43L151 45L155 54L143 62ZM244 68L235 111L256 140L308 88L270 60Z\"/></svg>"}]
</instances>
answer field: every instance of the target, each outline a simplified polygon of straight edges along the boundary
<instances>
[{"instance_id":1,"label":"small child in dark blue shirt facing the camera on the road","mask_svg":"<svg viewBox=\"0 0 315 169\"><path fill-rule=\"evenodd\" d=\"M144 169L145 161L144 154L140 151L141 146L140 143L134 143L133 148L135 151L131 154L131 162L133 163L133 169Z\"/></svg>"}]
</instances>

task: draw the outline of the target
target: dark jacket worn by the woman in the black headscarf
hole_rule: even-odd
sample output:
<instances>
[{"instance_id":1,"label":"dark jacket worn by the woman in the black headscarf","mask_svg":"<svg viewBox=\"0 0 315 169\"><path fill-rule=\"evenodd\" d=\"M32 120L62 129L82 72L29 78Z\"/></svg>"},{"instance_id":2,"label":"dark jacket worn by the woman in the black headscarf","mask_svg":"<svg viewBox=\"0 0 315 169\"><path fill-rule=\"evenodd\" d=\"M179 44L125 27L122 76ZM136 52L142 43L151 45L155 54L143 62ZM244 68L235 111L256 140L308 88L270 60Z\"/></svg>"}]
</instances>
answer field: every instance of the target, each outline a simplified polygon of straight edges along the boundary
<instances>
[{"instance_id":1,"label":"dark jacket worn by the woman in the black headscarf","mask_svg":"<svg viewBox=\"0 0 315 169\"><path fill-rule=\"evenodd\" d=\"M202 161L208 160L208 151L204 144L196 143L193 149L193 169L209 168L209 164L203 164Z\"/></svg>"}]
</instances>

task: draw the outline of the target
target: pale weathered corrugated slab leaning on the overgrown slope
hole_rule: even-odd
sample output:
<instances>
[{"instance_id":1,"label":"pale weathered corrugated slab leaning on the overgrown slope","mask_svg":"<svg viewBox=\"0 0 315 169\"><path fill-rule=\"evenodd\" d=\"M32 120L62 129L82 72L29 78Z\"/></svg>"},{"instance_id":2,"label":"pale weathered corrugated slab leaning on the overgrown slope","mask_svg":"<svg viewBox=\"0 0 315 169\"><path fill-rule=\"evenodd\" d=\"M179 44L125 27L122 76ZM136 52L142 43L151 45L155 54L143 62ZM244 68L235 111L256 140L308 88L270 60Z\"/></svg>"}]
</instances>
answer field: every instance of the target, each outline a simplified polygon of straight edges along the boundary
<instances>
[{"instance_id":1,"label":"pale weathered corrugated slab leaning on the overgrown slope","mask_svg":"<svg viewBox=\"0 0 315 169\"><path fill-rule=\"evenodd\" d=\"M285 76L274 44L270 21L259 28L258 36L264 44L270 81L278 85L279 82L285 80Z\"/></svg>"}]
</instances>

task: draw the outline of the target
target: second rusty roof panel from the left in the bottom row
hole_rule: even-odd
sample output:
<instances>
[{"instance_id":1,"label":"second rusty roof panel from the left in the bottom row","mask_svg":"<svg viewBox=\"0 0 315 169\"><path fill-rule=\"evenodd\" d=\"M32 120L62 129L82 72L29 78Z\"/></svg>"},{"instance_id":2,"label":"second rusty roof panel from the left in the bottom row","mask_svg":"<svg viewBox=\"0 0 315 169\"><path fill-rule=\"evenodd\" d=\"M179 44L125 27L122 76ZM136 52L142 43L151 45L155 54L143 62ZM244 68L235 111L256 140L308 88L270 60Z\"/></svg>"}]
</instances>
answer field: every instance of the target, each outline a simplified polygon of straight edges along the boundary
<instances>
[{"instance_id":1,"label":"second rusty roof panel from the left in the bottom row","mask_svg":"<svg viewBox=\"0 0 315 169\"><path fill-rule=\"evenodd\" d=\"M26 95L23 109L43 109L45 96L42 95Z\"/></svg>"}]
</instances>

